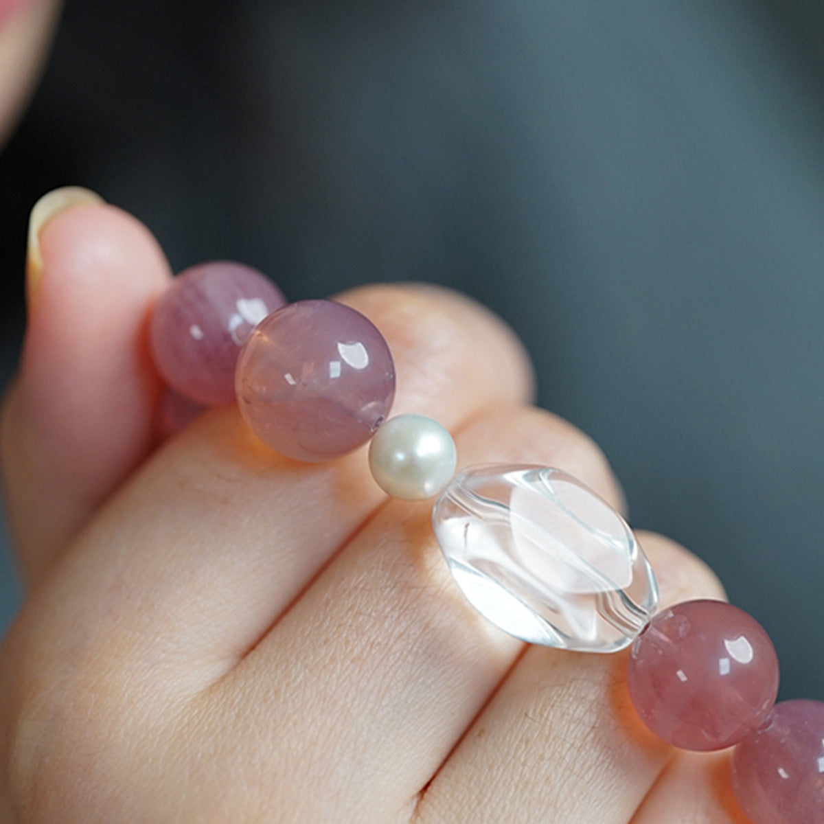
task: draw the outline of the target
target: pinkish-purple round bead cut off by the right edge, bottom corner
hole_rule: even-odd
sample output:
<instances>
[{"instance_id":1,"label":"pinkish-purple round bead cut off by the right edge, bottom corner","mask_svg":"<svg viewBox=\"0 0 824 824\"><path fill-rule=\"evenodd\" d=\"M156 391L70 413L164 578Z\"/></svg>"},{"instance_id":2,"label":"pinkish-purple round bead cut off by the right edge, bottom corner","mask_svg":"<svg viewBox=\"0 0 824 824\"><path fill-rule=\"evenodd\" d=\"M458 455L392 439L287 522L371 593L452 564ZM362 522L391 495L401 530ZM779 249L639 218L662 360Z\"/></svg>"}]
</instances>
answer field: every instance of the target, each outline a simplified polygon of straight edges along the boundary
<instances>
[{"instance_id":1,"label":"pinkish-purple round bead cut off by the right edge, bottom corner","mask_svg":"<svg viewBox=\"0 0 824 824\"><path fill-rule=\"evenodd\" d=\"M822 824L824 704L775 705L733 752L733 790L751 824Z\"/></svg>"}]
</instances>

